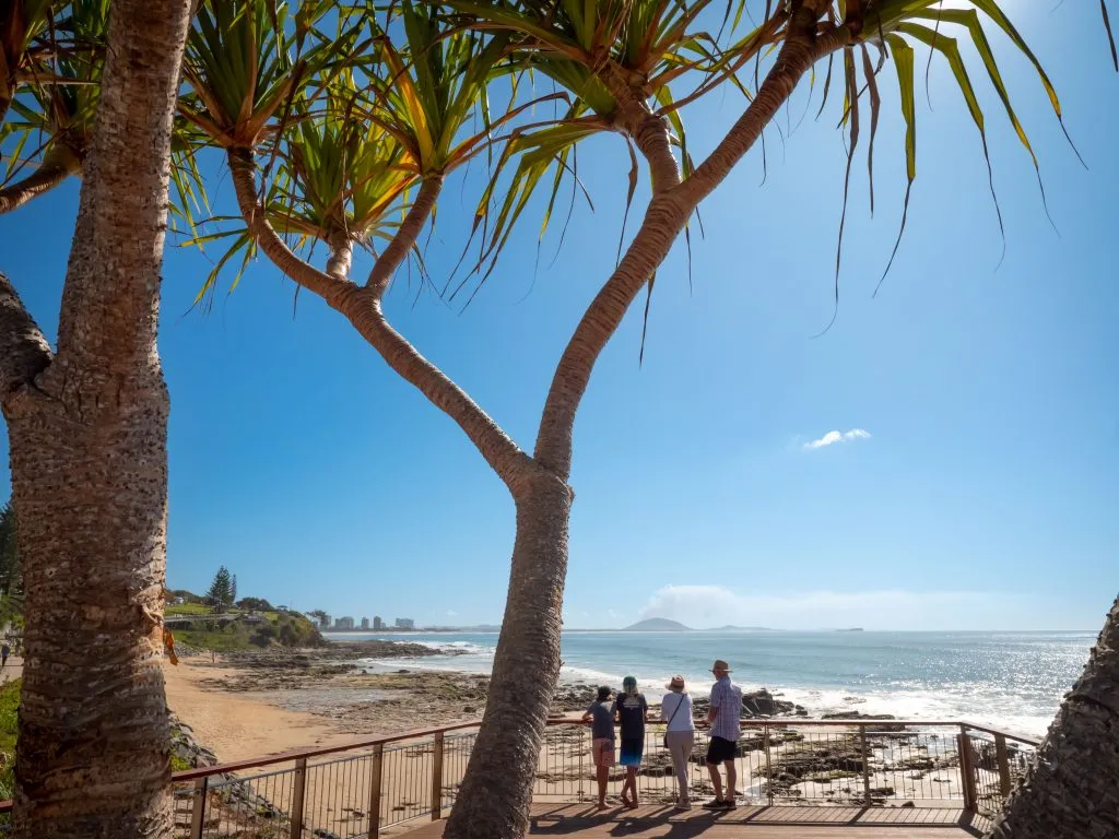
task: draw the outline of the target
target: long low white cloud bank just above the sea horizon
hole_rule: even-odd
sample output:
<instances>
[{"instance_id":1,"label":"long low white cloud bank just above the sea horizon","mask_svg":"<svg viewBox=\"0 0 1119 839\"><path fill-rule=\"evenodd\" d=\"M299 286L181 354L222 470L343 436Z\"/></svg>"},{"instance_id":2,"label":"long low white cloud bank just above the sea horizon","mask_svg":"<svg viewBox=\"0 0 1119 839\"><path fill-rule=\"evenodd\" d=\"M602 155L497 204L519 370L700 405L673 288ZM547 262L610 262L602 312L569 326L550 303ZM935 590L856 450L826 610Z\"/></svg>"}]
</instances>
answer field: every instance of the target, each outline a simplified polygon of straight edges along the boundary
<instances>
[{"instance_id":1,"label":"long low white cloud bank just above the sea horizon","mask_svg":"<svg viewBox=\"0 0 1119 839\"><path fill-rule=\"evenodd\" d=\"M649 598L641 618L670 618L696 629L948 630L1007 629L1036 622L1027 597L985 592L807 591L739 594L718 585L669 585Z\"/></svg>"}]
</instances>

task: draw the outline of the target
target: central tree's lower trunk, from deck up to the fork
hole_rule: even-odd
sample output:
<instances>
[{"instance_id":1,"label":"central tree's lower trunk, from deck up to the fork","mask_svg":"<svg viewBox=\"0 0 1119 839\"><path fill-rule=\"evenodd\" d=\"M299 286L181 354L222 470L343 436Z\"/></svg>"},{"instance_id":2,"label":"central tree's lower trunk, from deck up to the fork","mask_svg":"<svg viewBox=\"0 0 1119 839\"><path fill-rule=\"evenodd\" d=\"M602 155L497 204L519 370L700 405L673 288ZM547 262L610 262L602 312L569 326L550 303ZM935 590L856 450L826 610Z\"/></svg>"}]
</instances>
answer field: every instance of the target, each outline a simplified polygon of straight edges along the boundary
<instances>
[{"instance_id":1,"label":"central tree's lower trunk, from deck up to the fork","mask_svg":"<svg viewBox=\"0 0 1119 839\"><path fill-rule=\"evenodd\" d=\"M516 498L517 539L483 734L470 755L446 839L517 839L528 829L536 762L556 681L571 490L543 471Z\"/></svg>"}]
</instances>

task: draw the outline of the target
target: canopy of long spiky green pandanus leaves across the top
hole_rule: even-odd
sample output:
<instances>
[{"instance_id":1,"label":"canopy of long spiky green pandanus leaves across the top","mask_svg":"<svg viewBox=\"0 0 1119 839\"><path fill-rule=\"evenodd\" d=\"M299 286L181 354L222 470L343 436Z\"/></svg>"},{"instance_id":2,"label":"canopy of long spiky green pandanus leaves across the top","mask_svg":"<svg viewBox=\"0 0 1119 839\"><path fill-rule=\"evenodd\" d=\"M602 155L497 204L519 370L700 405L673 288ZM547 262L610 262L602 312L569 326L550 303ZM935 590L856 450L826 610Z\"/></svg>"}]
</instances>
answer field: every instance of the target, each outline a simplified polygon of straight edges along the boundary
<instances>
[{"instance_id":1,"label":"canopy of long spiky green pandanus leaves across the top","mask_svg":"<svg viewBox=\"0 0 1119 839\"><path fill-rule=\"evenodd\" d=\"M477 249L467 276L438 289L454 298L470 277L477 291L540 191L543 238L564 181L572 196L583 189L577 150L586 139L609 132L630 144L627 207L640 177L636 117L664 124L686 181L696 164L683 112L724 85L749 101L806 3L815 3L820 31L844 32L843 48L827 56L820 111L841 96L848 180L865 148L872 210L880 74L892 64L890 95L904 124L904 229L916 177L918 50L950 68L988 167L978 75L1037 166L988 36L1034 65L1057 119L1061 105L998 0L200 0L184 57L172 178L188 244L220 247L198 300L226 267L235 284L256 249L242 215L211 210L217 179L203 162L207 150L253 161L260 211L307 260L317 245L327 256L379 253L424 183L477 161L487 172L469 232ZM2 187L22 188L19 202L36 194L28 185L41 190L81 173L111 8L111 0L0 0ZM1119 69L1108 0L1101 12ZM843 221L840 251L841 237ZM420 244L406 244L422 271ZM348 257L341 264L348 271Z\"/></svg>"}]
</instances>

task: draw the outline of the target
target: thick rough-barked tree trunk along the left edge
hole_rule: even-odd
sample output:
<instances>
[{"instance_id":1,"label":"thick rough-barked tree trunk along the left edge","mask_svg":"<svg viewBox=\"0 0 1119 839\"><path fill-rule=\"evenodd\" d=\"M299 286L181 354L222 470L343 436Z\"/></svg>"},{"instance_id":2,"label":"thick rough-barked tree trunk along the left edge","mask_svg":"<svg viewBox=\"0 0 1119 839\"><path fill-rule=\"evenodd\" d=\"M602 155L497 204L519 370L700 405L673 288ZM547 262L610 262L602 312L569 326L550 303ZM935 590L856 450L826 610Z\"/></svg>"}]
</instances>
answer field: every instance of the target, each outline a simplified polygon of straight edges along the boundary
<instances>
[{"instance_id":1,"label":"thick rough-barked tree trunk along the left edge","mask_svg":"<svg viewBox=\"0 0 1119 839\"><path fill-rule=\"evenodd\" d=\"M6 371L0 395L27 588L18 839L171 836L156 331L188 9L114 0L58 351L36 352L27 318L29 361ZM7 330L18 299L4 302Z\"/></svg>"}]
</instances>

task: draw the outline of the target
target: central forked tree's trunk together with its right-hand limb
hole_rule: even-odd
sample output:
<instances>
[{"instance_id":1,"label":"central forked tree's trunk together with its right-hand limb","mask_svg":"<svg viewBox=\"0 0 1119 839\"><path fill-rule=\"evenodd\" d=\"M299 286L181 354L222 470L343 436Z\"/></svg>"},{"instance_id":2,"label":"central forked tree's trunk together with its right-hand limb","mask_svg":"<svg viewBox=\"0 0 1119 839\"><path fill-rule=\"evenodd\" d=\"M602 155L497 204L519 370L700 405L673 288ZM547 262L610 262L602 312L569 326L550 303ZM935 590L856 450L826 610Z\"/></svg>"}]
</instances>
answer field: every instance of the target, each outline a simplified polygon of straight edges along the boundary
<instances>
[{"instance_id":1,"label":"central forked tree's trunk together with its right-hand limb","mask_svg":"<svg viewBox=\"0 0 1119 839\"><path fill-rule=\"evenodd\" d=\"M560 673L571 515L566 481L575 414L599 355L688 216L761 136L812 63L843 46L841 37L820 43L814 35L826 6L825 0L800 6L792 35L754 101L687 181L679 182L667 129L640 115L632 117L639 129L634 139L653 173L653 197L626 255L587 308L556 367L529 470L536 475L534 494L526 498L515 481L506 479L517 501L514 569L482 729L446 826L446 839L519 839L525 833L544 724Z\"/></svg>"}]
</instances>

